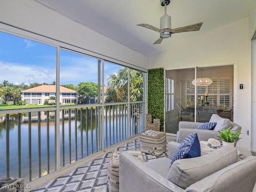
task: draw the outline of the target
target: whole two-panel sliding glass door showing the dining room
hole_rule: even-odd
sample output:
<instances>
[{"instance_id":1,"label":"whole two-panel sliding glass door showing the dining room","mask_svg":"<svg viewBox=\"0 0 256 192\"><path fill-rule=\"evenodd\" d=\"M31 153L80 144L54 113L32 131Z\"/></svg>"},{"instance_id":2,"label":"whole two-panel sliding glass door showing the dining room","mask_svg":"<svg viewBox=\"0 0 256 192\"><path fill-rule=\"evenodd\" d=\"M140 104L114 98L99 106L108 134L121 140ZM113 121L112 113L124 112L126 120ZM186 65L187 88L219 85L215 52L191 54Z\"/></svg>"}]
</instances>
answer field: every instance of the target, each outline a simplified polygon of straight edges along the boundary
<instances>
[{"instance_id":1,"label":"whole two-panel sliding glass door showing the dining room","mask_svg":"<svg viewBox=\"0 0 256 192\"><path fill-rule=\"evenodd\" d=\"M233 121L233 72L233 65L166 70L165 132L176 134L180 121L209 122L212 114Z\"/></svg>"}]
</instances>

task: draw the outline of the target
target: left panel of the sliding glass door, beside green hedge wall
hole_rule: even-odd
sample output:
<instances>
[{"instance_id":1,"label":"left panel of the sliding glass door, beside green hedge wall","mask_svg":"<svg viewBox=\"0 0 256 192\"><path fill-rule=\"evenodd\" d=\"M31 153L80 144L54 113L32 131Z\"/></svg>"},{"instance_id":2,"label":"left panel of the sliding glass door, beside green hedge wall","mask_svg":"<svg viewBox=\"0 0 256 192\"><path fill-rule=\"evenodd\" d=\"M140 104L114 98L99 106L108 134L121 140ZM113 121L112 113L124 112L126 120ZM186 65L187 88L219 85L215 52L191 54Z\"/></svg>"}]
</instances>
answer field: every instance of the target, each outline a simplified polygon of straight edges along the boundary
<instances>
[{"instance_id":1,"label":"left panel of the sliding glass door, beside green hedge wall","mask_svg":"<svg viewBox=\"0 0 256 192\"><path fill-rule=\"evenodd\" d=\"M180 121L194 121L194 95L188 90L188 79L193 79L195 69L166 70L165 78L165 131L176 134Z\"/></svg>"}]
</instances>

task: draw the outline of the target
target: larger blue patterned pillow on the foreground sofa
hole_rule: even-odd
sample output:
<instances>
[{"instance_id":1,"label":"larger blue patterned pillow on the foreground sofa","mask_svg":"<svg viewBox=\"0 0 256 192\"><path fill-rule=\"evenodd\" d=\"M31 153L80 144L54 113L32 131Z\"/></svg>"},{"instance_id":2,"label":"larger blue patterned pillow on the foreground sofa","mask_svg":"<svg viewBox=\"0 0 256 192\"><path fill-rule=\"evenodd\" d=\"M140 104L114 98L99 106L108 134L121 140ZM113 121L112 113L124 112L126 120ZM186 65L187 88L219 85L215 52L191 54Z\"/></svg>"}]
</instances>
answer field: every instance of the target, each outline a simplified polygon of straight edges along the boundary
<instances>
[{"instance_id":1,"label":"larger blue patterned pillow on the foreground sofa","mask_svg":"<svg viewBox=\"0 0 256 192\"><path fill-rule=\"evenodd\" d=\"M192 133L189 136L182 141L180 146L176 149L171 165L172 166L173 162L178 160L178 159L186 159L186 158L193 158L193 157L200 157L201 156L201 148L200 148L200 143L198 140L198 136L196 133Z\"/></svg>"}]
</instances>

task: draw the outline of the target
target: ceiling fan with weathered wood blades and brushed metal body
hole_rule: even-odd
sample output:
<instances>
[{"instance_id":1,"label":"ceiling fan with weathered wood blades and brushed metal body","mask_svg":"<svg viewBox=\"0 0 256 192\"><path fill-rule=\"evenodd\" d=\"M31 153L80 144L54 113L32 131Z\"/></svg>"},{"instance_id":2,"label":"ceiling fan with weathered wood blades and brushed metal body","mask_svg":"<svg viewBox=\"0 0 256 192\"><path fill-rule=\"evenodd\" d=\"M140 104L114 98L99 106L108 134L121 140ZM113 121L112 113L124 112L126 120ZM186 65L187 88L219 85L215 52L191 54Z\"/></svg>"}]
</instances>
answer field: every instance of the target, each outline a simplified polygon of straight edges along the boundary
<instances>
[{"instance_id":1,"label":"ceiling fan with weathered wood blades and brushed metal body","mask_svg":"<svg viewBox=\"0 0 256 192\"><path fill-rule=\"evenodd\" d=\"M137 26L145 27L160 33L160 37L154 42L154 44L160 44L164 38L169 38L174 33L200 30L203 22L171 29L171 16L166 14L166 6L170 4L170 0L160 0L160 3L164 6L164 15L160 18L160 29L146 23L137 24Z\"/></svg>"}]
</instances>

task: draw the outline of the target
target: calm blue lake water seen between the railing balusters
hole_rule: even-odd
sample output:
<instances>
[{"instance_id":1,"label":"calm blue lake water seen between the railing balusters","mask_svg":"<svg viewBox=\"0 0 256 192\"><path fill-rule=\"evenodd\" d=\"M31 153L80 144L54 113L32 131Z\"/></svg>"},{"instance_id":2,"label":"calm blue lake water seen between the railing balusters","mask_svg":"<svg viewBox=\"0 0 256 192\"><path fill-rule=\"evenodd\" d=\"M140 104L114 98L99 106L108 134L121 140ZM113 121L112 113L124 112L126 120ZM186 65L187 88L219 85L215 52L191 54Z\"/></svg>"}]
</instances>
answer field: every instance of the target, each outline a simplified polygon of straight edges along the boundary
<instances>
[{"instance_id":1,"label":"calm blue lake water seen between the railing balusters","mask_svg":"<svg viewBox=\"0 0 256 192\"><path fill-rule=\"evenodd\" d=\"M98 110L99 111L99 110ZM77 110L77 113L70 110L70 121L64 118L64 126L60 120L60 166L69 164L70 162L82 159L100 150L100 121L97 119L97 111L93 110ZM68 113L68 112L67 112ZM38 113L36 112L36 115ZM54 112L50 112L50 121L48 124L47 134L47 121L44 118L46 112L41 112L40 122L40 144L38 144L38 120L33 120L31 123L31 179L34 180L39 176L39 146L41 148L41 174L48 170L48 156L49 156L49 169L50 172L56 170L56 130L54 122ZM63 115L63 113L62 113ZM64 114L64 117L68 114ZM75 118L76 116L76 118ZM26 120L28 113L22 114L22 121L20 126L20 153L21 153L21 177L25 178L25 182L29 181L29 124ZM81 133L81 117L82 117L82 133ZM110 118L111 117L111 118ZM10 115L9 121L9 159L10 159L10 177L19 177L19 158L18 158L18 114ZM131 121L132 122L132 121ZM128 136L128 117L120 115L116 116L107 115L104 117L104 148L114 143L126 139ZM124 128L121 129L121 128ZM64 130L64 136L62 132ZM47 135L49 137L47 138ZM81 135L83 150L81 148ZM64 142L62 142L64 138ZM47 140L48 139L48 140ZM47 141L49 142L49 151L47 150ZM98 143L97 143L98 142ZM64 143L64 149L63 149ZM77 145L76 145L77 143ZM97 146L97 148L96 148ZM77 150L76 150L77 148ZM64 151L64 156L63 156ZM71 152L71 153L70 153ZM64 157L64 160L63 160ZM71 159L70 159L71 158ZM6 116L0 116L0 179L6 178Z\"/></svg>"}]
</instances>

